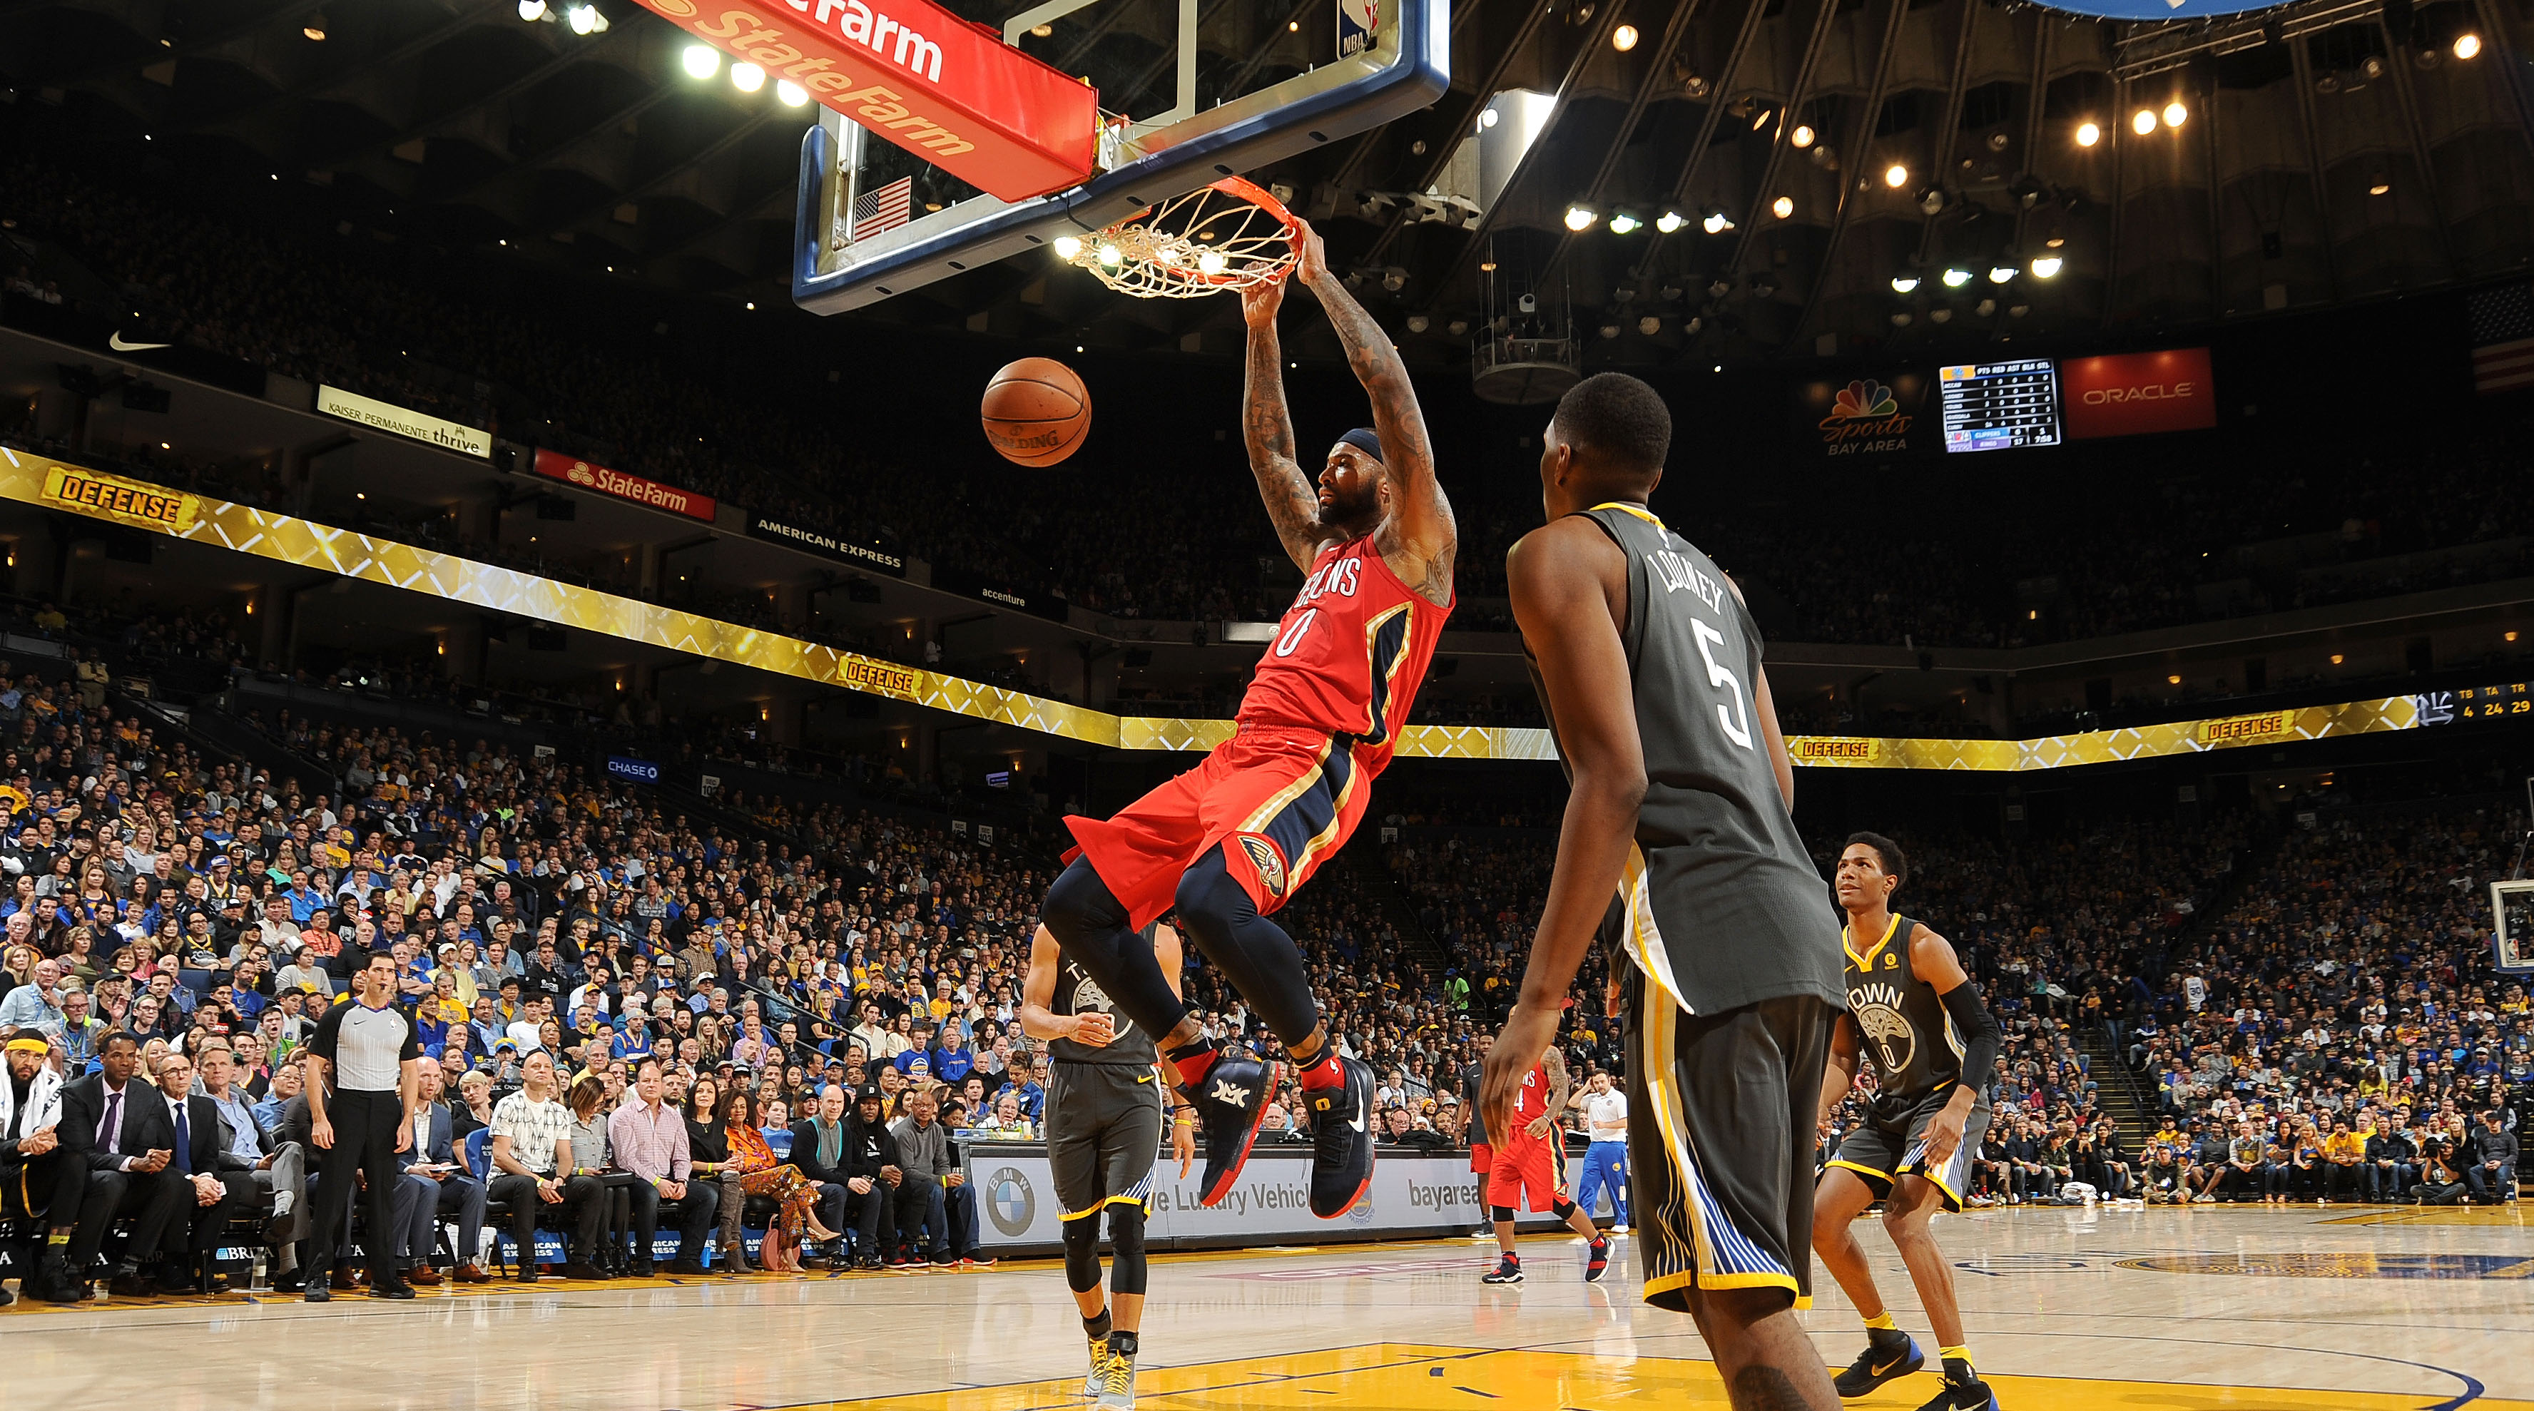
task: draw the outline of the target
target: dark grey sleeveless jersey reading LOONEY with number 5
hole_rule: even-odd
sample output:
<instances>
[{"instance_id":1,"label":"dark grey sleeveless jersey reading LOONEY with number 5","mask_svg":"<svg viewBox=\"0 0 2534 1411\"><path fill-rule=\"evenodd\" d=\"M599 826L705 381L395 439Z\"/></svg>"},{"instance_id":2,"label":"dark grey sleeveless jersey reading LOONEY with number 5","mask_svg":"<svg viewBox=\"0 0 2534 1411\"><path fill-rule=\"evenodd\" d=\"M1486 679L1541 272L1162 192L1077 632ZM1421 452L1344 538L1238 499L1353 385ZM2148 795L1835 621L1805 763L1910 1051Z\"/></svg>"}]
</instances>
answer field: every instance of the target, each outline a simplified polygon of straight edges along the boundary
<instances>
[{"instance_id":1,"label":"dark grey sleeveless jersey reading LOONEY with number 5","mask_svg":"<svg viewBox=\"0 0 2534 1411\"><path fill-rule=\"evenodd\" d=\"M1604 927L1690 1013L1779 996L1842 1008L1830 889L1794 831L1754 712L1759 623L1716 560L1642 504L1596 504L1584 517L1627 555L1622 643L1645 747L1637 846ZM1541 709L1553 732L1548 692Z\"/></svg>"}]
</instances>

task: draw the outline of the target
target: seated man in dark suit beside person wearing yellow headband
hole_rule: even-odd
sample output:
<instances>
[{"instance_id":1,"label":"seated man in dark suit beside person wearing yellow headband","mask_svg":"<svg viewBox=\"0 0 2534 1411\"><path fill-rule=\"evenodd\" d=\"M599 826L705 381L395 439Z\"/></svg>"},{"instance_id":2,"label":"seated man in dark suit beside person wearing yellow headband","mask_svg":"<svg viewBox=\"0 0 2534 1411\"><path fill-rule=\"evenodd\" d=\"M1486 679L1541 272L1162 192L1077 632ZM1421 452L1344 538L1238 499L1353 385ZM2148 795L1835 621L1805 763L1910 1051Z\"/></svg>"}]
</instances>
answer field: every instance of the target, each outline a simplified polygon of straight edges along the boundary
<instances>
[{"instance_id":1,"label":"seated man in dark suit beside person wearing yellow headband","mask_svg":"<svg viewBox=\"0 0 2534 1411\"><path fill-rule=\"evenodd\" d=\"M170 1173L175 1127L157 1087L134 1082L142 1046L132 1031L106 1034L96 1054L99 1072L61 1089L61 1150L68 1170L81 1173L76 1201L53 1196L53 1211L79 1211L71 1229L68 1269L84 1282L106 1229L117 1216L137 1216L132 1244L114 1264L117 1294L147 1294L139 1259L160 1246L160 1236L185 1201L188 1180ZM53 1216L58 1218L58 1216Z\"/></svg>"}]
</instances>

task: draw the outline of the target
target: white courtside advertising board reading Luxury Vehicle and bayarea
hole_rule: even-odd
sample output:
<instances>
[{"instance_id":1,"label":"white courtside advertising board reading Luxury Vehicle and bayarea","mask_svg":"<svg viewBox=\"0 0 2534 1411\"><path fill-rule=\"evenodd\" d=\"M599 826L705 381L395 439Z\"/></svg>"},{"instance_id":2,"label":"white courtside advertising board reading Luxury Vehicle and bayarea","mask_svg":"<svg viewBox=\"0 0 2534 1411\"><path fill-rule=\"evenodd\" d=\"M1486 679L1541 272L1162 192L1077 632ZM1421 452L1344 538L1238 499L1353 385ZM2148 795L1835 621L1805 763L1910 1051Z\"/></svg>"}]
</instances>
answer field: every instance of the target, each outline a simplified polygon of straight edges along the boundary
<instances>
[{"instance_id":1,"label":"white courtside advertising board reading Luxury Vehicle and bayarea","mask_svg":"<svg viewBox=\"0 0 2534 1411\"><path fill-rule=\"evenodd\" d=\"M1373 1188L1353 1211L1323 1221L1310 1213L1310 1148L1259 1145L1242 1168L1239 1183L1211 1211L1196 1203L1206 1163L1188 1165L1163 1155L1153 1165L1153 1218L1145 1239L1171 1244L1254 1246L1254 1244L1333 1244L1346 1239L1432 1239L1470 1234L1487 1224L1470 1153L1381 1150L1373 1160ZM1047 1173L1047 1148L1039 1142L973 1142L968 1178L978 1198L978 1239L996 1254L1029 1254L1064 1246L1064 1211ZM1609 1196L1601 1208L1607 1213ZM1556 1216L1518 1216L1518 1229L1556 1229Z\"/></svg>"}]
</instances>

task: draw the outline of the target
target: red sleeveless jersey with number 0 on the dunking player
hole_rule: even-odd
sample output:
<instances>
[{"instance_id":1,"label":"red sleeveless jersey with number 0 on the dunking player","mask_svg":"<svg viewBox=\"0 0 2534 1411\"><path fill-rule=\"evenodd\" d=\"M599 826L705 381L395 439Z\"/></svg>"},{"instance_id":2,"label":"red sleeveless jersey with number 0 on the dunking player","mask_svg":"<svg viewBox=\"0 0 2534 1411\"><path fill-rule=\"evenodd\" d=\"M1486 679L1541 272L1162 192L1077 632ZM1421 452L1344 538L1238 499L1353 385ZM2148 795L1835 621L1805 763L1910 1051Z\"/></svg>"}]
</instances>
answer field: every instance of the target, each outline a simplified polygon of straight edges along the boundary
<instances>
[{"instance_id":1,"label":"red sleeveless jersey with number 0 on the dunking player","mask_svg":"<svg viewBox=\"0 0 2534 1411\"><path fill-rule=\"evenodd\" d=\"M1358 765L1381 770L1449 616L1449 603L1399 583L1371 535L1320 550L1259 656L1239 719L1353 735Z\"/></svg>"}]
</instances>

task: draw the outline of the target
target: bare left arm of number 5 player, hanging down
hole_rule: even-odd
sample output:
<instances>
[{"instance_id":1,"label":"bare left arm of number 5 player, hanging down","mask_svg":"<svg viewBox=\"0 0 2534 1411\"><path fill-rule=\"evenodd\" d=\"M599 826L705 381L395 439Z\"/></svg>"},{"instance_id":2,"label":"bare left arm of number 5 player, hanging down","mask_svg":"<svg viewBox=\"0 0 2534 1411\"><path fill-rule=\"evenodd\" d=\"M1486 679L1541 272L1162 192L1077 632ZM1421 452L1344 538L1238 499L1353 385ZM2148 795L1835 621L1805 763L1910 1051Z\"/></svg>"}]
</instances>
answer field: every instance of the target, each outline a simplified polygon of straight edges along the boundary
<instances>
[{"instance_id":1,"label":"bare left arm of number 5 player, hanging down","mask_svg":"<svg viewBox=\"0 0 2534 1411\"><path fill-rule=\"evenodd\" d=\"M1619 892L1637 806L1645 800L1645 742L1637 735L1627 646L1619 641L1627 555L1591 519L1563 517L1513 545L1505 578L1513 621L1538 661L1541 692L1574 788L1558 826L1558 859L1548 874L1541 930L1531 940L1520 1003L1487 1054L1480 1102L1490 1132L1508 1130L1531 1054L1556 1039L1566 993Z\"/></svg>"}]
</instances>

